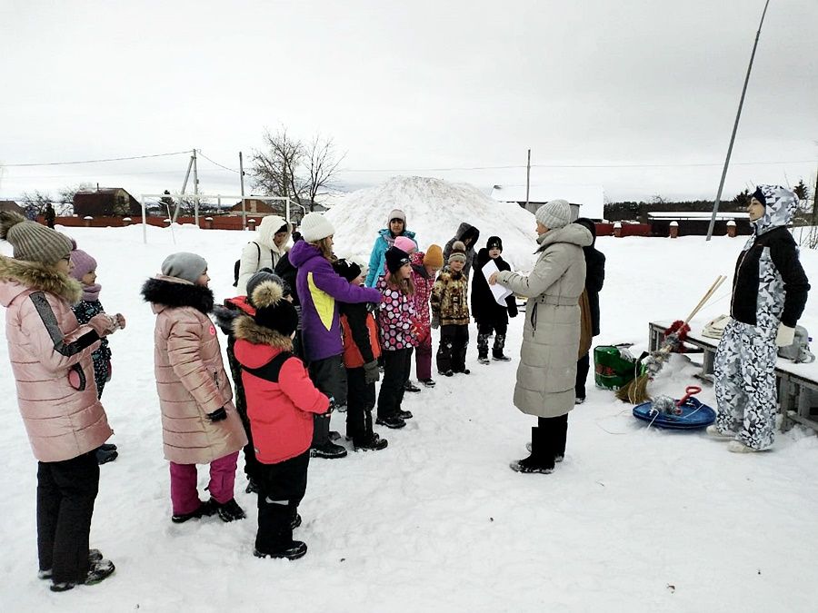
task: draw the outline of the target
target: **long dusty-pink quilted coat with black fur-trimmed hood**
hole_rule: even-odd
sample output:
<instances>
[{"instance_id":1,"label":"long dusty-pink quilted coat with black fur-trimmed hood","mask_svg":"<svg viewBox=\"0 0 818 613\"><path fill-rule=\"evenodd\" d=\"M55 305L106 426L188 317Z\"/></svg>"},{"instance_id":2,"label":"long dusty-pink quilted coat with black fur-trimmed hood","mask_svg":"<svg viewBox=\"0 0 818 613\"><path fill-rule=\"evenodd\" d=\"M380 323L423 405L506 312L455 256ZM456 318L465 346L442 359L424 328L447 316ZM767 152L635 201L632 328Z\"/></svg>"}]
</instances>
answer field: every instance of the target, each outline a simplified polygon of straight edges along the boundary
<instances>
[{"instance_id":1,"label":"long dusty-pink quilted coat with black fur-trimmed hood","mask_svg":"<svg viewBox=\"0 0 818 613\"><path fill-rule=\"evenodd\" d=\"M207 464L242 449L247 437L208 317L213 292L157 275L145 282L142 295L156 315L154 370L165 458L176 464ZM207 419L223 407L226 420Z\"/></svg>"}]
</instances>

